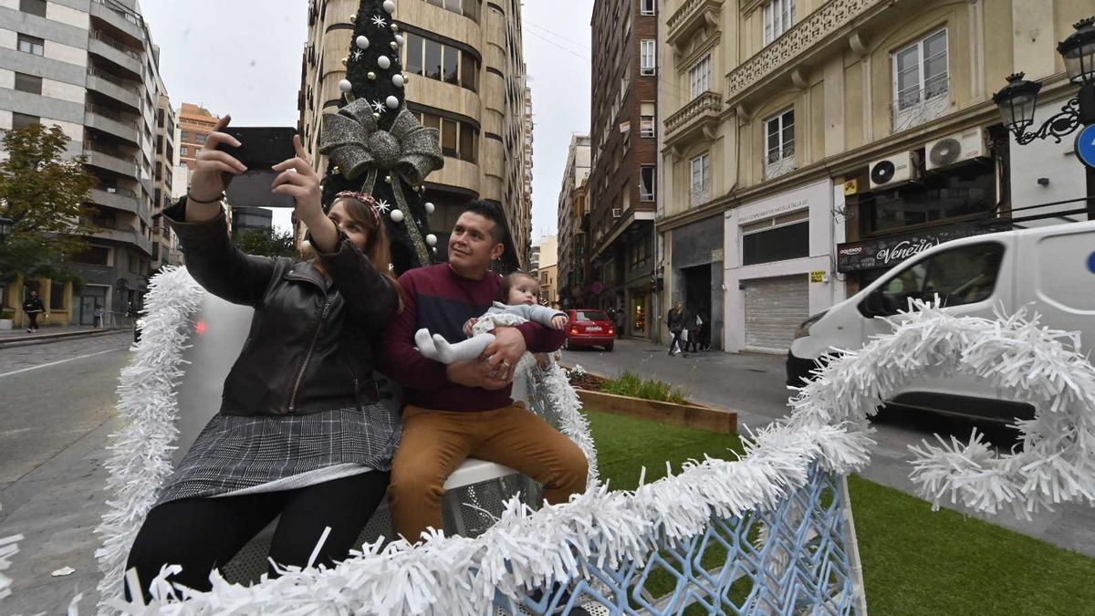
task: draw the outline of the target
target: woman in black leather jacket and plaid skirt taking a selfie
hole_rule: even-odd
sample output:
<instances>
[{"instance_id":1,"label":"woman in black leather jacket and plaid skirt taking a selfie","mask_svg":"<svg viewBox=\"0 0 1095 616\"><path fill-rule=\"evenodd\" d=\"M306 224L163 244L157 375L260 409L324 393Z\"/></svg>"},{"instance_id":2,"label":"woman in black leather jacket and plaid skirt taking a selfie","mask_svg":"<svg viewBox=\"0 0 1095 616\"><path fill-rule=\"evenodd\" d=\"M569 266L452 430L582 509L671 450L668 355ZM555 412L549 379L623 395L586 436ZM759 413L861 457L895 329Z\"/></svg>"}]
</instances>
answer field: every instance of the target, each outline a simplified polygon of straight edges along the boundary
<instances>
[{"instance_id":1,"label":"woman in black leather jacket and plaid skirt taking a selfie","mask_svg":"<svg viewBox=\"0 0 1095 616\"><path fill-rule=\"evenodd\" d=\"M164 564L183 567L170 581L209 590L210 571L278 515L273 561L306 567L320 543L315 564L344 559L384 495L399 444L399 420L371 380L374 340L399 303L372 198L342 193L324 214L320 180L295 137L297 156L274 167L273 192L296 199L315 256L243 254L220 203L222 178L246 170L217 149L241 146L222 132L228 123L208 136L186 198L164 217L194 278L255 312L220 412L168 480L129 554L126 569L136 568L146 596Z\"/></svg>"}]
</instances>

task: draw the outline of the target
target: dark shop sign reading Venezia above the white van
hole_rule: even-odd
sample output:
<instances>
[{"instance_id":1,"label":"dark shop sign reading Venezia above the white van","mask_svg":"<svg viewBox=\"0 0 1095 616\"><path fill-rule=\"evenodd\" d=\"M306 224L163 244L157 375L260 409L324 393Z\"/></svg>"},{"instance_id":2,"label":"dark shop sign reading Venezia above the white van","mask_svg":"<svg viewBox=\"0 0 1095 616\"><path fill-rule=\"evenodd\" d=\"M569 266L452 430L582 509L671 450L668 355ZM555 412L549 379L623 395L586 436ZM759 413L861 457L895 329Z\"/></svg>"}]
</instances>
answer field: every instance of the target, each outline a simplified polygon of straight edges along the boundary
<instances>
[{"instance_id":1,"label":"dark shop sign reading Venezia above the white van","mask_svg":"<svg viewBox=\"0 0 1095 616\"><path fill-rule=\"evenodd\" d=\"M837 271L889 269L943 242L1003 230L990 225L952 225L904 236L837 244Z\"/></svg>"}]
</instances>

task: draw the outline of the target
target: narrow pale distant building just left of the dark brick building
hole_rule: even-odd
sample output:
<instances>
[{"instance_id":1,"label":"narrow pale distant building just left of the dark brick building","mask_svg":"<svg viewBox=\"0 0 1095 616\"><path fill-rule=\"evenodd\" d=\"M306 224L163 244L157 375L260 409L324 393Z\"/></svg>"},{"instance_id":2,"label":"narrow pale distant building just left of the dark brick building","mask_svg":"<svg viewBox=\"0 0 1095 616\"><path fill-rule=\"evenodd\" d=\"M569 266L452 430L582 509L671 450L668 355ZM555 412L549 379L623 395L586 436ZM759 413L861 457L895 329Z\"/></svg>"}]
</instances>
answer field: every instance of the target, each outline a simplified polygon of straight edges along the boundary
<instances>
[{"instance_id":1,"label":"narrow pale distant building just left of the dark brick building","mask_svg":"<svg viewBox=\"0 0 1095 616\"><path fill-rule=\"evenodd\" d=\"M578 306L577 298L585 294L586 256L585 232L586 202L579 203L579 189L589 178L589 136L573 135L567 149L563 185L558 191L558 297L566 306ZM583 297L583 299L585 299Z\"/></svg>"}]
</instances>

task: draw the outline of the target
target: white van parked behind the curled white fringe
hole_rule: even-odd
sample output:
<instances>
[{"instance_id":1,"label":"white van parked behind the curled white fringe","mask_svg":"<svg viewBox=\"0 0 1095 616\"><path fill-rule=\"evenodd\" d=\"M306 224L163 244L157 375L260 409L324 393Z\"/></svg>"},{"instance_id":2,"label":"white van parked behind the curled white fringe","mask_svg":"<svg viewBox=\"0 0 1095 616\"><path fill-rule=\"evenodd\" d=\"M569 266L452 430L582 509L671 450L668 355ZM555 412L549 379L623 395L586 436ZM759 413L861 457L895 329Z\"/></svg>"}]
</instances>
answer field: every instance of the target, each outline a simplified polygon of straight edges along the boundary
<instances>
[{"instance_id":1,"label":"white van parked behind the curled white fringe","mask_svg":"<svg viewBox=\"0 0 1095 616\"><path fill-rule=\"evenodd\" d=\"M1087 349L1095 342L1095 221L964 238L921 252L803 322L787 354L787 385L802 385L821 355L889 333L876 317L897 315L909 298L935 295L954 315L992 318L999 306L1006 313L1026 308L1044 326L1081 332ZM924 376L890 402L1007 422L1034 411L972 377Z\"/></svg>"}]
</instances>

